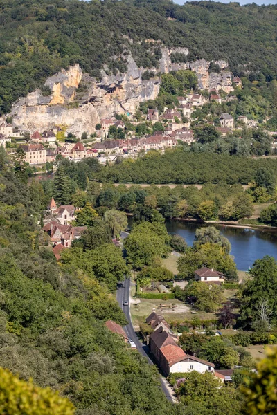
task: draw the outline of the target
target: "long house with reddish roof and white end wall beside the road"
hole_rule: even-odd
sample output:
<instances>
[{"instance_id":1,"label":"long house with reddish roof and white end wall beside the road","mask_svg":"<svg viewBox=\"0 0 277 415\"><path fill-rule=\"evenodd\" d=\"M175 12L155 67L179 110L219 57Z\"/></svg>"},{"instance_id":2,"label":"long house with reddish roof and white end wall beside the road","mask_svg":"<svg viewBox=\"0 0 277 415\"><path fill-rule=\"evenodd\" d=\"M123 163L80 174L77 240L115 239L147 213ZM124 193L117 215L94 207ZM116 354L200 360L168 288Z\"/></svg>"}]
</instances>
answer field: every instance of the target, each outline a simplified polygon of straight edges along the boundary
<instances>
[{"instance_id":1,"label":"long house with reddish roof and white end wall beside the road","mask_svg":"<svg viewBox=\"0 0 277 415\"><path fill-rule=\"evenodd\" d=\"M162 326L150 335L150 351L165 376L194 370L199 373L213 373L215 369L213 363L186 354Z\"/></svg>"}]
</instances>

